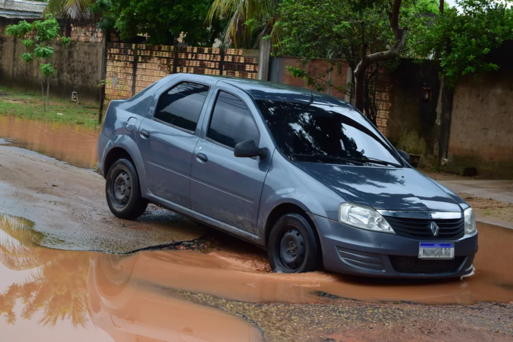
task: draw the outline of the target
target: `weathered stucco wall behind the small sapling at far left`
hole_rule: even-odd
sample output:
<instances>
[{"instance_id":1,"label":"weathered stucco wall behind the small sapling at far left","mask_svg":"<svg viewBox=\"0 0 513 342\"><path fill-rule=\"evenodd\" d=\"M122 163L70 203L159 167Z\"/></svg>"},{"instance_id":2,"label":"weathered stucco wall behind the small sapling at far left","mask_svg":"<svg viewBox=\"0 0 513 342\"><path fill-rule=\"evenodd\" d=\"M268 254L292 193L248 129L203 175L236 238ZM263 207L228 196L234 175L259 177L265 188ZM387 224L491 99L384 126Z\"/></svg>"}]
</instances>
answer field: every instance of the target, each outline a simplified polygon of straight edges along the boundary
<instances>
[{"instance_id":1,"label":"weathered stucco wall behind the small sapling at far left","mask_svg":"<svg viewBox=\"0 0 513 342\"><path fill-rule=\"evenodd\" d=\"M24 91L41 91L37 63L26 64L20 57L25 52L22 39L7 37L5 28L10 22L0 22L0 84ZM78 101L86 104L100 102L102 33L96 23L63 22L62 36L72 38L66 49L59 49L51 59L56 75L50 79L50 94L71 99L78 93ZM54 49L58 48L55 42ZM46 89L46 84L45 84Z\"/></svg>"}]
</instances>

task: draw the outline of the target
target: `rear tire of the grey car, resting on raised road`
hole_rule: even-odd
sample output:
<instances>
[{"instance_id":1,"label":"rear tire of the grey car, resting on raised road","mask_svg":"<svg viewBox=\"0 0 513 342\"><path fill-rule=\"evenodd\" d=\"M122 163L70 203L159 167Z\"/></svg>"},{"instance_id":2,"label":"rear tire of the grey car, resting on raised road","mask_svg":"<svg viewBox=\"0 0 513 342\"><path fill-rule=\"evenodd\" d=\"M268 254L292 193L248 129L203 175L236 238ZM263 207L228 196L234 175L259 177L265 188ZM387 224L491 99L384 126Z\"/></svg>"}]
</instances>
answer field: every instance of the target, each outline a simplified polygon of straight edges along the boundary
<instances>
[{"instance_id":1,"label":"rear tire of the grey car, resting on raised road","mask_svg":"<svg viewBox=\"0 0 513 342\"><path fill-rule=\"evenodd\" d=\"M135 167L128 159L114 162L107 174L105 194L110 211L119 218L135 219L148 206L141 196L141 186Z\"/></svg>"}]
</instances>

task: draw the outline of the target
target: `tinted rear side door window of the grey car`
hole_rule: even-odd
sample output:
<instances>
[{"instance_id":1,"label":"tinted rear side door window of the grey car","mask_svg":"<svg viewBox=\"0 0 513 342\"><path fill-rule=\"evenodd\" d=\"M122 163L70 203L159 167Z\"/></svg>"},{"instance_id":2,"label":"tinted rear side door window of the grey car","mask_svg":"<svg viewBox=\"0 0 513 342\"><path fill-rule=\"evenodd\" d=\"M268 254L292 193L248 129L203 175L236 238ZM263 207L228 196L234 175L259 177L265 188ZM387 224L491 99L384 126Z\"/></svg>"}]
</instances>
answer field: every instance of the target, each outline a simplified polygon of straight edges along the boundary
<instances>
[{"instance_id":1,"label":"tinted rear side door window of the grey car","mask_svg":"<svg viewBox=\"0 0 513 342\"><path fill-rule=\"evenodd\" d=\"M154 119L189 133L196 131L209 87L184 82L166 91L160 98Z\"/></svg>"}]
</instances>

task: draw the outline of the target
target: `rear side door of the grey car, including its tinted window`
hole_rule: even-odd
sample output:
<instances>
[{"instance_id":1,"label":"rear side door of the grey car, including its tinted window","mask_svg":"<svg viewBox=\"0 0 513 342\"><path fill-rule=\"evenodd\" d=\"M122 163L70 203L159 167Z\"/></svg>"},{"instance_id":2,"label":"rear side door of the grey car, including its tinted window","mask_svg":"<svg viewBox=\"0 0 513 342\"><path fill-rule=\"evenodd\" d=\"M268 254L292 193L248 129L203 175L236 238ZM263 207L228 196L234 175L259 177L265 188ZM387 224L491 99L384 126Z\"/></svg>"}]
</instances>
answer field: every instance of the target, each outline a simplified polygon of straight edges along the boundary
<instances>
[{"instance_id":1,"label":"rear side door of the grey car, including its tinted window","mask_svg":"<svg viewBox=\"0 0 513 342\"><path fill-rule=\"evenodd\" d=\"M198 143L198 122L210 86L181 81L165 89L151 118L143 120L138 145L148 189L153 195L190 208L190 171ZM198 133L196 133L198 132Z\"/></svg>"}]
</instances>

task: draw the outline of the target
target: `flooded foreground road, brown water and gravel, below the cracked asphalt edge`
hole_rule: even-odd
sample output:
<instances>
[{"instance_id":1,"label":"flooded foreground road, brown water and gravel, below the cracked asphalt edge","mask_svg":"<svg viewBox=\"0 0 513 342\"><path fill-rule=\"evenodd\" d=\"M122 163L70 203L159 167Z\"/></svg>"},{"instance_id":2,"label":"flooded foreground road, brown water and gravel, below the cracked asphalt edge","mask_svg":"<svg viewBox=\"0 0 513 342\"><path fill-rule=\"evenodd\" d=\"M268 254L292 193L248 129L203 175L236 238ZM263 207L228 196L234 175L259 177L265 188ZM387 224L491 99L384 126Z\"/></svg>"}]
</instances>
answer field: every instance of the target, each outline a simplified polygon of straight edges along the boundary
<instances>
[{"instance_id":1,"label":"flooded foreground road, brown water and gravel, below the cracked asphalt edge","mask_svg":"<svg viewBox=\"0 0 513 342\"><path fill-rule=\"evenodd\" d=\"M486 257L478 254L475 275L383 284L324 272L268 273L256 250L223 242L205 252L128 256L48 249L38 246L42 236L30 221L3 214L0 340L512 340L512 276L499 267L511 266L511 251L490 249L513 237L480 229Z\"/></svg>"}]
</instances>

